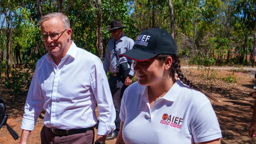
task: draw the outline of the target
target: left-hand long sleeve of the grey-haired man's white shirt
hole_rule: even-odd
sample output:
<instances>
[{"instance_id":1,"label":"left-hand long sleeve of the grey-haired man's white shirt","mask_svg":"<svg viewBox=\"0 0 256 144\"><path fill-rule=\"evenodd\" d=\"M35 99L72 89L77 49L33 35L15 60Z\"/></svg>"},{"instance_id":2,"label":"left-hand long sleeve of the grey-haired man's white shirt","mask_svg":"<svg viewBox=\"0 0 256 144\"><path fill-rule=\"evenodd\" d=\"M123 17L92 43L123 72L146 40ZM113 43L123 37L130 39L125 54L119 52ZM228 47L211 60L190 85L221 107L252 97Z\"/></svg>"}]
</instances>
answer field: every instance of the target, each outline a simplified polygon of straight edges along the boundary
<instances>
[{"instance_id":1,"label":"left-hand long sleeve of the grey-haired man's white shirt","mask_svg":"<svg viewBox=\"0 0 256 144\"><path fill-rule=\"evenodd\" d=\"M37 64L38 65L38 64ZM21 122L21 129L32 131L35 127L36 120L41 113L44 105L44 97L39 85L37 74L37 66L30 83L26 103L24 106L24 114Z\"/></svg>"}]
</instances>

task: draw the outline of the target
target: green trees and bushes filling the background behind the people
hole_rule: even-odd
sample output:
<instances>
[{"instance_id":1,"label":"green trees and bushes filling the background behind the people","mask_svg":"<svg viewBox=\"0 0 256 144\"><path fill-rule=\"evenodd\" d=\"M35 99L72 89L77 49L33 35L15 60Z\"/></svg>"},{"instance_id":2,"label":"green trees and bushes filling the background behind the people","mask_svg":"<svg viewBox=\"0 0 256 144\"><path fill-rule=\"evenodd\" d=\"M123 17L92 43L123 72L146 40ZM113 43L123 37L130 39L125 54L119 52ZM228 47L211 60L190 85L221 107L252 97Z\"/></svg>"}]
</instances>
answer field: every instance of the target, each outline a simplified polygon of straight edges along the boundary
<instances>
[{"instance_id":1,"label":"green trees and bushes filling the background behind the people","mask_svg":"<svg viewBox=\"0 0 256 144\"><path fill-rule=\"evenodd\" d=\"M72 40L101 59L111 38L105 28L121 19L134 40L147 28L169 31L189 63L254 65L256 0L1 0L0 76L15 93L28 88L36 61L47 53L37 21L50 12L67 15Z\"/></svg>"}]
</instances>

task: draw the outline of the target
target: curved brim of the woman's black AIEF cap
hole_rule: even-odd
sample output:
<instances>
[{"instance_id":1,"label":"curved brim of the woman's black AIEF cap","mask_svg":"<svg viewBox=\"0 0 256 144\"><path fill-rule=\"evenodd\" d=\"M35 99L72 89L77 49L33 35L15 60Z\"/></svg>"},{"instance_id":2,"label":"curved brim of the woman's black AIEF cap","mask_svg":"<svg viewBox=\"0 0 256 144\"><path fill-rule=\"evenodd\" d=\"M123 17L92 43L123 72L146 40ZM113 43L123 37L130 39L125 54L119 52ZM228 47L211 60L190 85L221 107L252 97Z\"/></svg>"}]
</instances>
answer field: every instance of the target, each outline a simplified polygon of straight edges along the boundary
<instances>
[{"instance_id":1,"label":"curved brim of the woman's black AIEF cap","mask_svg":"<svg viewBox=\"0 0 256 144\"><path fill-rule=\"evenodd\" d=\"M132 50L129 50L121 55L118 55L119 57L128 57L129 59L132 59L134 61L147 61L149 59L152 59L158 54L145 52L142 50L137 50L133 48Z\"/></svg>"}]
</instances>

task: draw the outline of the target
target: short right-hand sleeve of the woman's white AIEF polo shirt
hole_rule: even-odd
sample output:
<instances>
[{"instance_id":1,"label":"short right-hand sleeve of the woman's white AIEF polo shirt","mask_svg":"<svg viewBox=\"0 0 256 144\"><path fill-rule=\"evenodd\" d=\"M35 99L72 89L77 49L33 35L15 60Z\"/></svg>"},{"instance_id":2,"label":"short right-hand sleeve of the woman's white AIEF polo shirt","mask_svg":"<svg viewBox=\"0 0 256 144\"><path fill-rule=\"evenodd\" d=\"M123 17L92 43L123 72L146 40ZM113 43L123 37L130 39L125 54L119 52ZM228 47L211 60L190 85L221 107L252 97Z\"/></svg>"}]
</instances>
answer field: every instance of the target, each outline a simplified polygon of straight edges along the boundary
<instances>
[{"instance_id":1,"label":"short right-hand sleeve of the woman's white AIEF polo shirt","mask_svg":"<svg viewBox=\"0 0 256 144\"><path fill-rule=\"evenodd\" d=\"M194 114L190 122L194 142L207 142L221 138L221 129L210 101Z\"/></svg>"}]
</instances>

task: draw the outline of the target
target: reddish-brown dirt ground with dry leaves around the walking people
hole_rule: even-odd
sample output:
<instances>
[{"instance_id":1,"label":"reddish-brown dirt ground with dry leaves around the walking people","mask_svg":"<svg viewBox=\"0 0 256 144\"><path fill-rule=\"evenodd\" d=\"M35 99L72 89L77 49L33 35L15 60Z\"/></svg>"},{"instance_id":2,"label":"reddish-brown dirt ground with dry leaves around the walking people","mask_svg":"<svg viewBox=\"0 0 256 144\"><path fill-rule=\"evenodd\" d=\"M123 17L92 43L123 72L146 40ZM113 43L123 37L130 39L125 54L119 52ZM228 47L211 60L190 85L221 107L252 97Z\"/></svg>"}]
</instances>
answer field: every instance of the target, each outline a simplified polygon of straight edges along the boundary
<instances>
[{"instance_id":1,"label":"reddish-brown dirt ground with dry leaves around the walking people","mask_svg":"<svg viewBox=\"0 0 256 144\"><path fill-rule=\"evenodd\" d=\"M217 98L217 102L211 101L213 109L217 114L219 124L222 130L222 144L256 144L256 139L248 136L248 127L252 119L252 107L254 99L248 94L253 91L254 74L256 72L250 67L247 70L244 67L234 67L226 69L214 69L209 72L207 79L207 71L204 68L197 69L184 68L182 72L185 76L193 81L206 92ZM235 71L235 72L234 72ZM228 83L225 81L230 76L236 80L236 83ZM4 85L0 85L0 96L7 105L7 114L9 119L7 123L19 135L21 134L20 123L26 101L26 93L24 91L20 95L13 94L10 90L4 89ZM35 129L32 131L28 144L39 144L40 131L43 127L43 113L37 119ZM18 144L19 140L13 140L9 135L5 126L0 129L1 144ZM106 141L107 144L114 144L115 140Z\"/></svg>"}]
</instances>

